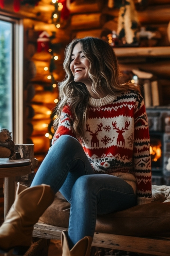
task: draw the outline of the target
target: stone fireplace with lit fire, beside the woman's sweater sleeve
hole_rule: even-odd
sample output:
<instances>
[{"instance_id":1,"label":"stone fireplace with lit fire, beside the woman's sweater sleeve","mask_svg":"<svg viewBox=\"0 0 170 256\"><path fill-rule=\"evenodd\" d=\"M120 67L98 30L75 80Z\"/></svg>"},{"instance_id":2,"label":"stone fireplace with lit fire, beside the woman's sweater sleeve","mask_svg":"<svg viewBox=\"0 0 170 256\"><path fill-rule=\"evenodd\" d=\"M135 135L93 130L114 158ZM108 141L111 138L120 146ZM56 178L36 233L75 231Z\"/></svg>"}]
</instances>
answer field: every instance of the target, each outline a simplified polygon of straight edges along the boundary
<instances>
[{"instance_id":1,"label":"stone fireplace with lit fire, beside the woman's sweater sleeve","mask_svg":"<svg viewBox=\"0 0 170 256\"><path fill-rule=\"evenodd\" d=\"M152 184L170 186L170 106L147 108Z\"/></svg>"}]
</instances>

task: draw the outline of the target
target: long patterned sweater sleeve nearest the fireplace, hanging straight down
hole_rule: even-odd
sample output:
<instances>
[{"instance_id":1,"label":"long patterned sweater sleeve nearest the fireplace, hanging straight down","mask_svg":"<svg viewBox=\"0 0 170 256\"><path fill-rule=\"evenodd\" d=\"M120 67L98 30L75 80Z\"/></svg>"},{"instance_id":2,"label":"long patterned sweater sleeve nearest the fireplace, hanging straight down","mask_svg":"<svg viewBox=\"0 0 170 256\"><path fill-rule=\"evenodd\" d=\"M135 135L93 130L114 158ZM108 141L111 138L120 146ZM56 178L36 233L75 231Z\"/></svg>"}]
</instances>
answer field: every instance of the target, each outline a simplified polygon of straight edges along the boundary
<instances>
[{"instance_id":1,"label":"long patterned sweater sleeve nearest the fireplace, hanging straight down","mask_svg":"<svg viewBox=\"0 0 170 256\"><path fill-rule=\"evenodd\" d=\"M137 184L137 203L150 203L151 186L151 157L148 118L143 98L136 100L134 113L134 171Z\"/></svg>"}]
</instances>

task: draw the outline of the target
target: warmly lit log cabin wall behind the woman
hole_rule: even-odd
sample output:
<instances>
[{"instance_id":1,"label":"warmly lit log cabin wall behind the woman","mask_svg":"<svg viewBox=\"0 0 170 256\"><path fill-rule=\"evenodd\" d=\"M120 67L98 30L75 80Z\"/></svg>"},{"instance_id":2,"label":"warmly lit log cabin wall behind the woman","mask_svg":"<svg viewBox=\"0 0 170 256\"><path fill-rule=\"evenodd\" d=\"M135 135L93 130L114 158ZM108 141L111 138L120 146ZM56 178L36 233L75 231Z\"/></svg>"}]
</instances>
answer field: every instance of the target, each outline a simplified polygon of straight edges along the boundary
<instances>
[{"instance_id":1,"label":"warmly lit log cabin wall behind the woman","mask_svg":"<svg viewBox=\"0 0 170 256\"><path fill-rule=\"evenodd\" d=\"M56 28L51 22L54 5L51 0L41 0L37 6L21 6L17 13L13 11L13 1L7 1L3 11L23 19L24 24L24 143L35 144L35 157L39 163L44 159L50 147L49 132L58 99L57 87L49 90L51 81L49 67L51 55L48 51L37 52L37 39L40 32L50 36L58 59L53 76L56 81L64 79L63 60L65 46L75 37L102 37L107 40L107 33L117 30L119 8L111 0L75 0L70 4L70 16L61 21ZM139 2L144 2L140 5ZM145 27L156 36L150 40L140 40L138 46L114 47L123 79L131 79L132 70L152 74L159 91L159 105L170 103L170 1L169 0L134 0L139 26ZM142 73L143 75L143 73ZM145 75L144 75L145 76ZM144 77L145 78L145 77ZM151 81L151 82L152 82ZM145 79L140 79L143 85ZM57 82L56 82L57 84ZM152 103L151 103L152 104Z\"/></svg>"}]
</instances>

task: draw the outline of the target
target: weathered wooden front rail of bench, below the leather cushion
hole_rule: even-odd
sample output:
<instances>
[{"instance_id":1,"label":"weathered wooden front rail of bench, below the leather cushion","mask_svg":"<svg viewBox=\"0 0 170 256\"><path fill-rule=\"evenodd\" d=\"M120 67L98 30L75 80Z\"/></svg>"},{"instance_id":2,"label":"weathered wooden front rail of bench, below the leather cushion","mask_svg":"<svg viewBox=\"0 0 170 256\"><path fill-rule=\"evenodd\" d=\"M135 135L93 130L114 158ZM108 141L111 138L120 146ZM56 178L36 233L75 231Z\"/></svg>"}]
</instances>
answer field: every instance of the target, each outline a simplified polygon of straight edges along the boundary
<instances>
[{"instance_id":1,"label":"weathered wooden front rail of bench, below the leather cushion","mask_svg":"<svg viewBox=\"0 0 170 256\"><path fill-rule=\"evenodd\" d=\"M64 229L66 228L37 223L34 226L33 237L61 240L61 233ZM132 237L95 232L92 246L170 256L170 240L163 238Z\"/></svg>"}]
</instances>

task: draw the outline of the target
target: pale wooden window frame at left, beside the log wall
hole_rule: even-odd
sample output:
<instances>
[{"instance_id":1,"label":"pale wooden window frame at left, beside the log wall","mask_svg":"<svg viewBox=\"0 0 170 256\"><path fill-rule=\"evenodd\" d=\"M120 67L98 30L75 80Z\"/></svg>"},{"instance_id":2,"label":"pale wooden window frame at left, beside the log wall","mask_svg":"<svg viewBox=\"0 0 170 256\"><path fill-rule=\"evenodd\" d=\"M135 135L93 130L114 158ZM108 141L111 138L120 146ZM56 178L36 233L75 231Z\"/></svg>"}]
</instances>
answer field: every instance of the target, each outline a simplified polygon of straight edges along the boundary
<instances>
[{"instance_id":1,"label":"pale wooden window frame at left, beside the log wall","mask_svg":"<svg viewBox=\"0 0 170 256\"><path fill-rule=\"evenodd\" d=\"M23 143L23 20L0 12L12 26L12 140Z\"/></svg>"}]
</instances>

